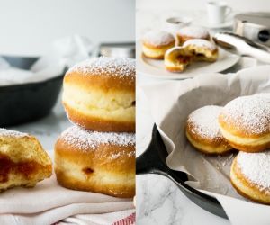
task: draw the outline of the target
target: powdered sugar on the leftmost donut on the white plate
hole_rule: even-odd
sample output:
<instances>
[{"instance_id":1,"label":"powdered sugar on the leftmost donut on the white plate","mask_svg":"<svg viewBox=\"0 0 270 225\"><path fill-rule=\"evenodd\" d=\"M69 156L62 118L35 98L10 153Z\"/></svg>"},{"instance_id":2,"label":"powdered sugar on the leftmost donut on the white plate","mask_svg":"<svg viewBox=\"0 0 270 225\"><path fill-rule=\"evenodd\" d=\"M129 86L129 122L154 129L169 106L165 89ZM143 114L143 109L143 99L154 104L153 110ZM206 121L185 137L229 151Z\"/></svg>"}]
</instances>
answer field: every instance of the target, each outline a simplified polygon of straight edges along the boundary
<instances>
[{"instance_id":1,"label":"powdered sugar on the leftmost donut on the white plate","mask_svg":"<svg viewBox=\"0 0 270 225\"><path fill-rule=\"evenodd\" d=\"M148 31L142 39L152 46L168 45L175 42L174 36L166 31Z\"/></svg>"}]
</instances>

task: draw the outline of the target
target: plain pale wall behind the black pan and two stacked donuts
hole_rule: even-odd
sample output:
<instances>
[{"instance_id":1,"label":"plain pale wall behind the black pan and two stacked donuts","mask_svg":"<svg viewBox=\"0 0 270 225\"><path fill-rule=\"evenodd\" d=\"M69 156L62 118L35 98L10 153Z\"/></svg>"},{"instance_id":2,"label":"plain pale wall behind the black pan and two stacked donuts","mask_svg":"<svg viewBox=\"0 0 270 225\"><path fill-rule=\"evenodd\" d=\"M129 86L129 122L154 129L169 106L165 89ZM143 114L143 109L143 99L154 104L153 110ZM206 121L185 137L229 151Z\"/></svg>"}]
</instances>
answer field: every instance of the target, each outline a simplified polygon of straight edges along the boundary
<instances>
[{"instance_id":1,"label":"plain pale wall behind the black pan and two stacked donuts","mask_svg":"<svg viewBox=\"0 0 270 225\"><path fill-rule=\"evenodd\" d=\"M42 54L73 34L135 39L135 0L0 0L0 54Z\"/></svg>"}]
</instances>

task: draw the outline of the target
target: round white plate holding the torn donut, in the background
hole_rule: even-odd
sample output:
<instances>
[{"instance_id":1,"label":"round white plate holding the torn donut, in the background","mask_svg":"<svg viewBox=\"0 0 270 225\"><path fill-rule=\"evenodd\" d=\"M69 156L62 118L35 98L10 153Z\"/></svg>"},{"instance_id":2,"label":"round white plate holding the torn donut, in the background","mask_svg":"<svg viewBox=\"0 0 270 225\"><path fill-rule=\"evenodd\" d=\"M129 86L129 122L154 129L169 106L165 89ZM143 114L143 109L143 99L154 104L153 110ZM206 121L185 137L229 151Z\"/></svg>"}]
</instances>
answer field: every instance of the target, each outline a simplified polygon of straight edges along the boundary
<instances>
[{"instance_id":1,"label":"round white plate holding the torn donut, in the background","mask_svg":"<svg viewBox=\"0 0 270 225\"><path fill-rule=\"evenodd\" d=\"M188 66L182 73L168 72L163 60L146 58L141 51L141 43L137 42L136 50L137 72L141 75L152 76L161 79L186 79L193 78L202 73L217 73L235 65L239 56L219 48L219 58L216 62L195 62Z\"/></svg>"}]
</instances>

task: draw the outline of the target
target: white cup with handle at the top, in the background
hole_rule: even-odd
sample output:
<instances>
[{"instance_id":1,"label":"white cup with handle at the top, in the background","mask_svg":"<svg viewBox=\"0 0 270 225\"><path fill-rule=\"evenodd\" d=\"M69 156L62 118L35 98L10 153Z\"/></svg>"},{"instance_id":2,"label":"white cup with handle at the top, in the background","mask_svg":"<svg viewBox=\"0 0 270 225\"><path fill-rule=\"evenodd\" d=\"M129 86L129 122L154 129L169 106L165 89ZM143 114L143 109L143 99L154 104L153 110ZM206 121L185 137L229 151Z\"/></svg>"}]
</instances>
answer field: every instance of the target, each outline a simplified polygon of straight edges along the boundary
<instances>
[{"instance_id":1,"label":"white cup with handle at the top, in the background","mask_svg":"<svg viewBox=\"0 0 270 225\"><path fill-rule=\"evenodd\" d=\"M206 4L208 21L211 24L224 23L232 9L224 1L210 1Z\"/></svg>"}]
</instances>

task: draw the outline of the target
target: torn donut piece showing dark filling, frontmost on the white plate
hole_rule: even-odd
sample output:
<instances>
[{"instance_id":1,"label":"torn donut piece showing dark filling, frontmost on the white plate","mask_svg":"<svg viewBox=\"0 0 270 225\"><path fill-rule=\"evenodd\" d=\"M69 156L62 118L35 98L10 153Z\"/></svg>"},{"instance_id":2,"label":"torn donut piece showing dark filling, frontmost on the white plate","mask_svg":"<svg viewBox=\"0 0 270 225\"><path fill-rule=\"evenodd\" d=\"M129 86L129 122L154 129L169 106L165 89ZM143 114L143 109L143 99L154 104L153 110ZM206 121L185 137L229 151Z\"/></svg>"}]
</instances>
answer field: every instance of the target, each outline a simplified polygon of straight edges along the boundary
<instances>
[{"instance_id":1,"label":"torn donut piece showing dark filling, frontmost on the white plate","mask_svg":"<svg viewBox=\"0 0 270 225\"><path fill-rule=\"evenodd\" d=\"M168 49L164 57L164 65L170 72L183 72L192 61L192 52L182 47Z\"/></svg>"}]
</instances>

